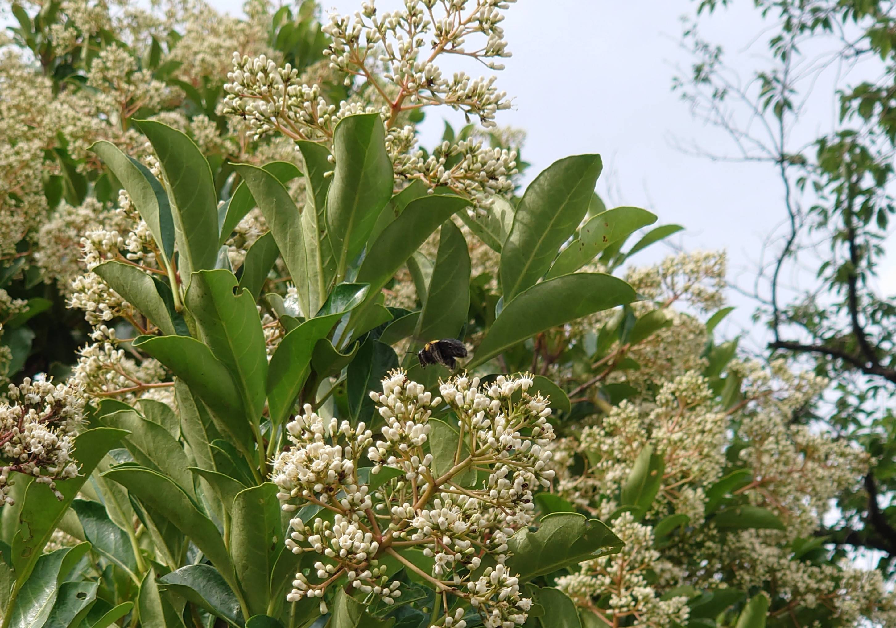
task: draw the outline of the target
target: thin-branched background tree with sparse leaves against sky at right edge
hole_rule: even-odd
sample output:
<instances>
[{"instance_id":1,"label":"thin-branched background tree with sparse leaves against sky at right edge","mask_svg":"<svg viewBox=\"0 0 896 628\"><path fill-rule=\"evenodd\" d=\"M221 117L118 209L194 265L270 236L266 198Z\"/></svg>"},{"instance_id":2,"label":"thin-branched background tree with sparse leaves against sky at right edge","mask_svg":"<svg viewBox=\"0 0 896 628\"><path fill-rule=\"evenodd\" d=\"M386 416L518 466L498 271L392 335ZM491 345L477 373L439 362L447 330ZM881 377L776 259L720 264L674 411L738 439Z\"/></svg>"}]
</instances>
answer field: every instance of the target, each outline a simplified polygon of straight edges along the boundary
<instances>
[{"instance_id":1,"label":"thin-branched background tree with sparse leaves against sky at right edge","mask_svg":"<svg viewBox=\"0 0 896 628\"><path fill-rule=\"evenodd\" d=\"M728 4L702 1L697 15L708 20ZM793 420L831 426L874 457L863 490L840 495L840 521L819 534L879 550L881 568L892 573L896 310L878 273L892 265L886 244L896 211L896 13L886 2L754 4L769 27L760 36L768 61L747 75L732 71L694 22L685 30L693 73L675 87L696 115L728 133L733 159L767 163L780 176L786 228L771 238L771 262L759 270L757 320L769 326L772 355L831 378L829 402ZM831 98L839 107L827 121ZM820 120L830 132L814 134ZM789 285L793 269L799 288Z\"/></svg>"}]
</instances>

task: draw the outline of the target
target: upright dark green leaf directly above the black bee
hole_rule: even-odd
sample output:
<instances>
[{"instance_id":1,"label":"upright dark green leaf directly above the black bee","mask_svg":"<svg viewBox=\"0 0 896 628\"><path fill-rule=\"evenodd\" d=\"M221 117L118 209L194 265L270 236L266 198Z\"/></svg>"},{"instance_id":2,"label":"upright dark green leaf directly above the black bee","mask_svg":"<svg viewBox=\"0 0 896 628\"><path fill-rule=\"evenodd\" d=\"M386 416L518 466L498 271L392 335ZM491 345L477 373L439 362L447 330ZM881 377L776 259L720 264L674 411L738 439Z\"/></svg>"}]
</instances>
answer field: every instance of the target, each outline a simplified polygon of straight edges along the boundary
<instances>
[{"instance_id":1,"label":"upright dark green leaf directly above the black bee","mask_svg":"<svg viewBox=\"0 0 896 628\"><path fill-rule=\"evenodd\" d=\"M470 253L461 229L442 225L429 291L414 336L423 342L457 338L470 311Z\"/></svg>"}]
</instances>

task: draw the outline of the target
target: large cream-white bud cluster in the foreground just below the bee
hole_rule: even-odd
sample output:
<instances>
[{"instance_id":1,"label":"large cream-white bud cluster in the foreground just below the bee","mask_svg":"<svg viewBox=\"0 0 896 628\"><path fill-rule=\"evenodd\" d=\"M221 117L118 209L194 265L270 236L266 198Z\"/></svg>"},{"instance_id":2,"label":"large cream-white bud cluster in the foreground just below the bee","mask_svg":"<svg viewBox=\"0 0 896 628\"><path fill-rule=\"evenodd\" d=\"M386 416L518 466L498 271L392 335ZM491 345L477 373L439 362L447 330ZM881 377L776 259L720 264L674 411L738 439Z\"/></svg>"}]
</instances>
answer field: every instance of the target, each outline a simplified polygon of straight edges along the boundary
<instances>
[{"instance_id":1,"label":"large cream-white bud cluster in the foreground just below the bee","mask_svg":"<svg viewBox=\"0 0 896 628\"><path fill-rule=\"evenodd\" d=\"M550 409L528 392L531 385L529 374L489 384L462 374L441 382L435 397L397 369L370 393L382 419L376 439L364 423L324 418L306 405L287 426L293 446L272 474L283 509L298 511L287 546L318 555L312 573L296 574L288 599L320 598L323 610L326 590L342 579L393 604L401 590L381 561L389 555L437 594L460 598L487 628L523 624L531 600L505 566L508 540L533 522L532 490L554 477ZM442 419L433 412L445 406L457 426L442 422L434 431ZM456 449L451 456L445 438ZM365 454L373 467L361 466L369 464ZM422 551L432 567L421 569L402 554L408 551ZM433 625L464 628L467 621L462 608L446 603Z\"/></svg>"}]
</instances>

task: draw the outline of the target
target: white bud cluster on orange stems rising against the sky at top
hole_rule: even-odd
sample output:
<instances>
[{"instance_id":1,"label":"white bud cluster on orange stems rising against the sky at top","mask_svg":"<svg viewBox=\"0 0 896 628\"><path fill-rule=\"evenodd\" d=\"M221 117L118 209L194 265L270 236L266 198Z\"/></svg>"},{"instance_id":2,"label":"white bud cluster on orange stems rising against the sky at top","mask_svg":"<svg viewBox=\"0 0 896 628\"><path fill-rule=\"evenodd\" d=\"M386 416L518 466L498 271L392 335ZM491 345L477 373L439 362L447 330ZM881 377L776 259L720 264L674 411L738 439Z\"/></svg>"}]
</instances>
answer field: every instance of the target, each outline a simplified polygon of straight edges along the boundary
<instances>
[{"instance_id":1,"label":"white bud cluster on orange stems rising against the sky at top","mask_svg":"<svg viewBox=\"0 0 896 628\"><path fill-rule=\"evenodd\" d=\"M500 27L513 0L459 0L435 3L409 0L405 8L376 17L372 2L364 4L355 19L332 15L323 30L332 37L324 51L334 71L364 80L362 89L338 105L324 98L317 83L307 83L291 65L278 66L265 55L251 58L234 53L233 71L224 85L223 111L246 122L254 139L283 133L293 140L332 142L333 127L343 117L378 113L387 131L387 149L396 179L419 179L430 188L444 185L473 198L478 204L494 194L513 192L518 173L517 152L489 148L481 137L444 142L433 154L418 150L416 131L409 113L427 106L444 105L478 116L481 125L495 126L495 114L510 108L495 77L471 79L466 73L444 78L435 65L439 55L454 54L477 59L501 69L490 59L510 56ZM444 14L436 15L436 9ZM485 38L482 47L467 50L467 38ZM432 50L426 55L426 38Z\"/></svg>"}]
</instances>

